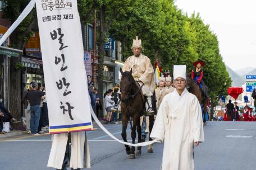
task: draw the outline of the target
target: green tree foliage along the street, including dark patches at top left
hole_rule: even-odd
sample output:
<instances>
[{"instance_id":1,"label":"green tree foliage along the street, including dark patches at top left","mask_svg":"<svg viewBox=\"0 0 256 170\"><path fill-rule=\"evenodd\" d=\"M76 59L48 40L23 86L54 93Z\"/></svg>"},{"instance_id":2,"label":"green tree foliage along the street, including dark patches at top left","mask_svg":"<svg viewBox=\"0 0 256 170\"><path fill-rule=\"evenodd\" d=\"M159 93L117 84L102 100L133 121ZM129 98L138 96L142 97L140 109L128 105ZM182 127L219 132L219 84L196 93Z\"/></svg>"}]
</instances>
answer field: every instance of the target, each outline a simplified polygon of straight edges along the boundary
<instances>
[{"instance_id":1,"label":"green tree foliage along the street, including dark patches at top left","mask_svg":"<svg viewBox=\"0 0 256 170\"><path fill-rule=\"evenodd\" d=\"M15 21L28 2L8 0L4 17ZM124 58L132 54L132 39L139 36L143 53L149 56L152 64L157 53L163 69L172 72L173 64L186 64L190 74L193 63L203 60L206 64L204 81L210 89L213 105L220 96L227 95L231 78L218 48L217 35L205 25L199 13L188 16L175 6L173 0L79 0L77 4L83 23L92 23L94 10L97 10L100 69L103 68L103 45L107 36L121 42ZM12 44L18 49L24 48L24 43L35 30L36 11L33 10L13 33ZM100 69L99 78L103 73Z\"/></svg>"}]
</instances>

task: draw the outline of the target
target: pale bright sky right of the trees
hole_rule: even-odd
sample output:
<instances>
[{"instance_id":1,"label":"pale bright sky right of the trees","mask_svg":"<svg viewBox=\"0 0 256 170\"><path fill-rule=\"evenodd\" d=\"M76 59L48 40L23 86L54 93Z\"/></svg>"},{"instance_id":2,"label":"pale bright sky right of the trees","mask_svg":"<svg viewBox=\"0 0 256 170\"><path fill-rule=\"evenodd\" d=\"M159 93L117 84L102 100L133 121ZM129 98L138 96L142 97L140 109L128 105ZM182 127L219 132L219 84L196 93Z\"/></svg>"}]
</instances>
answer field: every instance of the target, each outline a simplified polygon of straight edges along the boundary
<instances>
[{"instance_id":1,"label":"pale bright sky right of the trees","mask_svg":"<svg viewBox=\"0 0 256 170\"><path fill-rule=\"evenodd\" d=\"M256 68L256 0L176 0L184 13L200 13L217 35L228 67Z\"/></svg>"}]
</instances>

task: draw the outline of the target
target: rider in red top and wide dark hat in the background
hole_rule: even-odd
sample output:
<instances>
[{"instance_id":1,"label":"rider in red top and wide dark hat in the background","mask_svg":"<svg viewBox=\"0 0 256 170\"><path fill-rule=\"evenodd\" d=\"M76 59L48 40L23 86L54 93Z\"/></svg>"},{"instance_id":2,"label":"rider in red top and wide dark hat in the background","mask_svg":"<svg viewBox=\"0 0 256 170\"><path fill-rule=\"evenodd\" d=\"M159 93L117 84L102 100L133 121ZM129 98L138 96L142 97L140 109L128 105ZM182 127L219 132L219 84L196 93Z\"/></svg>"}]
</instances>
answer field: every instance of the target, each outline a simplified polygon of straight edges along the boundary
<instances>
[{"instance_id":1,"label":"rider in red top and wide dark hat in the background","mask_svg":"<svg viewBox=\"0 0 256 170\"><path fill-rule=\"evenodd\" d=\"M194 81L198 82L198 84L200 86L200 89L204 93L204 96L207 97L208 96L208 89L205 86L204 81L203 81L204 72L203 72L203 68L202 68L202 67L204 67L205 63L201 62L201 61L197 61L193 65L194 65L194 67L193 67L192 72L191 72L191 78L193 78Z\"/></svg>"}]
</instances>

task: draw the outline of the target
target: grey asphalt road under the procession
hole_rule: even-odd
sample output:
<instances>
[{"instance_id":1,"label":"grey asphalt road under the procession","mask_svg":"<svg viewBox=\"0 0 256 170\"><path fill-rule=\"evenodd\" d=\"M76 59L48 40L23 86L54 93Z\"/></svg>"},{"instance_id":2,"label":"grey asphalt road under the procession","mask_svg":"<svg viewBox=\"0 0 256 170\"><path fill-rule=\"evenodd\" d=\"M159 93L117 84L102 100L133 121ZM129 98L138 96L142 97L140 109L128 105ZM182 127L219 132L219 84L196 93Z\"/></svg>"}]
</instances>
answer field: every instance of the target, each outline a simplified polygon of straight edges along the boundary
<instances>
[{"instance_id":1,"label":"grey asphalt road under the procession","mask_svg":"<svg viewBox=\"0 0 256 170\"><path fill-rule=\"evenodd\" d=\"M94 128L97 128L95 126ZM121 125L106 125L121 139ZM256 123L208 122L204 126L205 142L195 148L195 169L255 170ZM127 131L130 136L130 131ZM130 138L129 138L130 139ZM142 155L129 159L124 145L113 141L102 130L88 132L91 169L159 169L163 144L154 144L153 153L143 147ZM50 135L21 135L0 139L1 170L47 170L51 149Z\"/></svg>"}]
</instances>

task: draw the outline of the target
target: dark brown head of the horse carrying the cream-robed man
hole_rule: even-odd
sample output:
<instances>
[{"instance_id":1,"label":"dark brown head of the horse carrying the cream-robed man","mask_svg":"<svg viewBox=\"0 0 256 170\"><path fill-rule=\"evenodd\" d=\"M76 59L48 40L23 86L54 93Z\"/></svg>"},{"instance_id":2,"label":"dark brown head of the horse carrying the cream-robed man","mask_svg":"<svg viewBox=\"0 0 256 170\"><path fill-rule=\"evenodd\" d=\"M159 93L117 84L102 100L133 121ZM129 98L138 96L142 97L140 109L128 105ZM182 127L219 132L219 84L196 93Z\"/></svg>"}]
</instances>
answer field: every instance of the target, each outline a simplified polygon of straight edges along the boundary
<instances>
[{"instance_id":1,"label":"dark brown head of the horse carrying the cream-robed man","mask_svg":"<svg viewBox=\"0 0 256 170\"><path fill-rule=\"evenodd\" d=\"M122 74L121 81L120 81L120 92L121 92L121 100L122 102L127 101L130 98L132 93L132 84L135 82L134 78L132 77L132 69L130 72L123 72L120 68L120 72Z\"/></svg>"}]
</instances>

